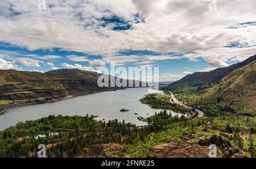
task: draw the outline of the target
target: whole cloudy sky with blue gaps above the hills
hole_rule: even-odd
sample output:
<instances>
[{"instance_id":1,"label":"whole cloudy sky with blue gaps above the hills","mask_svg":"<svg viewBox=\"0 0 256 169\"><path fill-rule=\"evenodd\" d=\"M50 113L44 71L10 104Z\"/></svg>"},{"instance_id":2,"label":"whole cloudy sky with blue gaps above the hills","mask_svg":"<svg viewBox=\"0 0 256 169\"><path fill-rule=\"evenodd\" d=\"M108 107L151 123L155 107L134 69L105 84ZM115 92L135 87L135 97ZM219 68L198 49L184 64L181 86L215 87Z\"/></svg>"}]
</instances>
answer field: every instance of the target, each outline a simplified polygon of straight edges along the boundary
<instances>
[{"instance_id":1,"label":"whole cloudy sky with blue gaps above the hills","mask_svg":"<svg viewBox=\"0 0 256 169\"><path fill-rule=\"evenodd\" d=\"M0 69L115 63L175 81L256 54L255 0L39 1L0 1Z\"/></svg>"}]
</instances>

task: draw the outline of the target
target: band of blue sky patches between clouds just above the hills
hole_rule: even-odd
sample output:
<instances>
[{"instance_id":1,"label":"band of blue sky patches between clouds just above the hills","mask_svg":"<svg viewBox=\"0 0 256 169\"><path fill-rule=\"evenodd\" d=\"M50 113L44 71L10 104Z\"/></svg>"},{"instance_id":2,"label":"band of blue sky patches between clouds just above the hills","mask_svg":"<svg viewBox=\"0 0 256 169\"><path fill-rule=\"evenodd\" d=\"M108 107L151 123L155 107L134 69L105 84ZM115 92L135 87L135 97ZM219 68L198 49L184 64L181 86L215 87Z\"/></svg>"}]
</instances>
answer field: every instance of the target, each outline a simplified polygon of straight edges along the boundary
<instances>
[{"instance_id":1,"label":"band of blue sky patches between clouds just above the hills","mask_svg":"<svg viewBox=\"0 0 256 169\"><path fill-rule=\"evenodd\" d=\"M39 62L40 67L35 67L35 66L26 66L26 65L19 65L20 70L24 70L24 71L33 71L33 70L37 70L37 71L42 71L42 72L46 72L46 71L50 71L52 70L51 67L47 65L47 62L51 62L55 67L59 67L59 69L63 69L65 67L63 67L61 64L63 63L67 63L69 65L75 65L75 64L80 64L82 66L88 67L88 66L93 66L94 65L90 65L89 64L89 60L100 60L102 57L100 55L96 56L96 55L90 55L90 54L85 54L85 53L80 53L80 52L74 52L74 51L67 51L67 50L62 50L62 49L46 49L46 50L28 50L27 48L20 48L20 47L16 47L14 45L10 45L7 43L0 43L0 50L2 51L2 53L5 52L17 52L17 54L10 54L10 58L6 57L6 61L13 61L16 58L31 58L34 59L36 58L38 61L42 61ZM147 51L147 50L125 50L122 52L118 53L119 55L123 56L161 56L161 53L158 52L151 52L151 51ZM175 54L175 53L167 53L167 54L171 54L174 57L182 57L183 54ZM167 55L166 54L166 55ZM32 57L31 57L32 55ZM35 55L35 56L34 56ZM59 56L60 58L49 58L47 60L45 59L40 59L40 57L44 57L44 56ZM67 56L77 56L77 57L87 57L88 61L72 61L69 60L67 58ZM110 67L110 64L105 64L106 67ZM128 67L135 67L138 65L134 65L134 62L130 62L129 64L126 65L121 65L124 66L126 68ZM152 66L157 66L159 67L159 73L160 74L168 74L170 73L170 71L173 74L180 74L182 73L181 71L185 70L185 71L190 71L190 72L194 72L194 71L198 71L198 70L203 70L205 67L208 67L209 64L204 61L203 59L199 59L196 62L190 62L188 60L188 58L181 58L181 59L174 59L174 60L164 60L164 61L158 61L155 62L154 65ZM96 69L96 67L95 67Z\"/></svg>"}]
</instances>

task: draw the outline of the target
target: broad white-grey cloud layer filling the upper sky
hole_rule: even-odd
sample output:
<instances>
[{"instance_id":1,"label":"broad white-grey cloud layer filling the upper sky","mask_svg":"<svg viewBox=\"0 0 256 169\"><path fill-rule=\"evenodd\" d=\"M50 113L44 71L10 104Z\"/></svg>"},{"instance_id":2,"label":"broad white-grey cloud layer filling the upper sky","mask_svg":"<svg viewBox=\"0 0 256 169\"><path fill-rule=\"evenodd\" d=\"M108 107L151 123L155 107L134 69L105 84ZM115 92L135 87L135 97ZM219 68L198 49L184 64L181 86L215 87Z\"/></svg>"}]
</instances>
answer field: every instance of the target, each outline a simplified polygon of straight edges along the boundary
<instances>
[{"instance_id":1,"label":"broad white-grey cloud layer filling the upper sky","mask_svg":"<svg viewBox=\"0 0 256 169\"><path fill-rule=\"evenodd\" d=\"M29 50L60 48L100 55L102 61L116 61L118 65L179 59L166 54L143 58L119 56L123 50L193 52L187 56L189 61L199 61L201 57L211 67L228 66L229 60L245 60L255 54L256 1L217 1L216 11L209 10L210 3L208 0L55 0L47 1L47 11L39 11L34 0L3 1L0 22L5 27L0 27L0 41ZM113 17L121 23L108 23ZM114 30L120 24L130 27ZM246 43L248 47L225 48L230 42ZM54 60L61 56L34 58ZM69 56L68 60L88 61L79 56Z\"/></svg>"}]
</instances>

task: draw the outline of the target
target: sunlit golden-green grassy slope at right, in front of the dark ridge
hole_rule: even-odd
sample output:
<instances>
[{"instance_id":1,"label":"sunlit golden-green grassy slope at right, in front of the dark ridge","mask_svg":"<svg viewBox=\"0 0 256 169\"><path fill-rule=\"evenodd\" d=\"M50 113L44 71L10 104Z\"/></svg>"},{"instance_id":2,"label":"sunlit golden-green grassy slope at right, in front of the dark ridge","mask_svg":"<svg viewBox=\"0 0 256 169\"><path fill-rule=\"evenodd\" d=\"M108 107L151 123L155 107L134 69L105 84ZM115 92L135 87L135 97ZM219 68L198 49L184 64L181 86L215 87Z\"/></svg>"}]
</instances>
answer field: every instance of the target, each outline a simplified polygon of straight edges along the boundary
<instances>
[{"instance_id":1,"label":"sunlit golden-green grassy slope at right, in front of the dark ridge","mask_svg":"<svg viewBox=\"0 0 256 169\"><path fill-rule=\"evenodd\" d=\"M232 71L204 94L205 100L237 112L256 113L256 61Z\"/></svg>"}]
</instances>

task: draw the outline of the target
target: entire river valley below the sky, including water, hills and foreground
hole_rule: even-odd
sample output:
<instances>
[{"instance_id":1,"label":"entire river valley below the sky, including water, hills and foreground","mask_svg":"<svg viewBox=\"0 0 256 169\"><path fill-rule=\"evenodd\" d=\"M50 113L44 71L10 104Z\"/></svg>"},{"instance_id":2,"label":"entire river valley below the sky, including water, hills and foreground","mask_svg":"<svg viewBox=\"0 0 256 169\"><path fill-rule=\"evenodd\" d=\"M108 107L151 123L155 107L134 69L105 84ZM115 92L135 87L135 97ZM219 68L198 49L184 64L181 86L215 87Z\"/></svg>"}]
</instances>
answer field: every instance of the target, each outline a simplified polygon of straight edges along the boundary
<instances>
[{"instance_id":1,"label":"entire river valley below the sky, including water, hills and foreground","mask_svg":"<svg viewBox=\"0 0 256 169\"><path fill-rule=\"evenodd\" d=\"M33 80L35 74L10 75L11 79L6 75L1 81L1 104L12 105L22 99L44 103L120 89L98 88L93 76L85 81L89 74L59 70L45 73L42 79L50 75L51 80L40 82ZM71 80L69 75L80 80ZM195 75L199 81L193 81ZM111 94L100 92L98 97L93 94L10 108L0 121L15 116L16 122L0 132L0 157L37 157L36 146L42 142L49 158L209 157L211 144L217 146L217 157L255 157L255 77L253 56L206 75L195 73L164 84L160 93L128 88L108 91ZM106 99L110 96L112 99ZM109 107L113 103L115 106ZM28 120L26 113L34 117ZM25 119L20 121L22 117Z\"/></svg>"}]
</instances>

